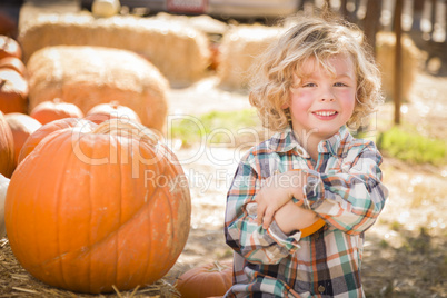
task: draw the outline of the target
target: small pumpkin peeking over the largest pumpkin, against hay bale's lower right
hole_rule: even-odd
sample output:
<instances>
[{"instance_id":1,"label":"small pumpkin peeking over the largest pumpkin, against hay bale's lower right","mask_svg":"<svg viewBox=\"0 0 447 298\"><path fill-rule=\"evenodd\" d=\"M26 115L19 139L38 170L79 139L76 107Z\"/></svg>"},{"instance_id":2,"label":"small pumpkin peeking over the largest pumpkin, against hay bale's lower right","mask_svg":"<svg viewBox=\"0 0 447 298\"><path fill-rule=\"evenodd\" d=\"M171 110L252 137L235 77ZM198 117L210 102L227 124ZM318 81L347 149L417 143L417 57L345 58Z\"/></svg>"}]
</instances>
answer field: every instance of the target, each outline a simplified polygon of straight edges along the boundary
<instances>
[{"instance_id":1,"label":"small pumpkin peeking over the largest pumpkin, against hay bale's lower right","mask_svg":"<svg viewBox=\"0 0 447 298\"><path fill-rule=\"evenodd\" d=\"M99 125L109 119L121 119L121 121L135 121L141 123L138 115L129 107L121 106L117 101L99 103L86 113L86 119Z\"/></svg>"}]
</instances>

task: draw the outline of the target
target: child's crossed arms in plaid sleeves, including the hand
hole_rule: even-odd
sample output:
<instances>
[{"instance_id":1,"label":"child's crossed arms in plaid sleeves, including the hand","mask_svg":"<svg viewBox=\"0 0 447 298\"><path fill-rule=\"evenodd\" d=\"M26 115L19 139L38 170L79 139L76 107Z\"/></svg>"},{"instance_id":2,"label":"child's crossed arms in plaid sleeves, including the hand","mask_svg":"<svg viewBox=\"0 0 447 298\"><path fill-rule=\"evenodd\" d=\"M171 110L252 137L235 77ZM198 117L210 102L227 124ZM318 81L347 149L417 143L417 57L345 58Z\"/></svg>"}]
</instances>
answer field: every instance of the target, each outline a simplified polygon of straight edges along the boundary
<instances>
[{"instance_id":1,"label":"child's crossed arms in plaid sleeves, including the hand","mask_svg":"<svg viewBox=\"0 0 447 298\"><path fill-rule=\"evenodd\" d=\"M385 206L381 158L375 148L362 150L348 172L302 170L302 187L291 189L261 185L251 161L238 168L227 197L225 225L227 244L250 261L272 264L292 254L299 247L299 235L290 232L300 229L299 225L309 226L315 213L331 227L355 235L368 229ZM272 192L277 200L271 200ZM311 210L296 205L301 199ZM248 208L254 203L255 212Z\"/></svg>"}]
</instances>

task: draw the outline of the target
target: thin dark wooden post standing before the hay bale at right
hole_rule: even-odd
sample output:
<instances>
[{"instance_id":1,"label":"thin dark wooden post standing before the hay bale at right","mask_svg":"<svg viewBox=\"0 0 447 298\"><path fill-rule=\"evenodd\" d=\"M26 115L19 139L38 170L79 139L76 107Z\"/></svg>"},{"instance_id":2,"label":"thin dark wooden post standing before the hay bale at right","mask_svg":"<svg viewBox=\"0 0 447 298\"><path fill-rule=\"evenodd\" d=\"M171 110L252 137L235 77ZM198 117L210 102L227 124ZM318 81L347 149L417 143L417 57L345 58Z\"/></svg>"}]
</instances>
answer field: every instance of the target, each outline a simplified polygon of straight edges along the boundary
<instances>
[{"instance_id":1,"label":"thin dark wooden post standing before the hay bale at right","mask_svg":"<svg viewBox=\"0 0 447 298\"><path fill-rule=\"evenodd\" d=\"M395 34L396 34L396 47L395 47L395 82L394 82L394 99L395 99L395 125L400 123L400 102L401 102L401 13L403 13L403 1L396 0L395 8Z\"/></svg>"}]
</instances>

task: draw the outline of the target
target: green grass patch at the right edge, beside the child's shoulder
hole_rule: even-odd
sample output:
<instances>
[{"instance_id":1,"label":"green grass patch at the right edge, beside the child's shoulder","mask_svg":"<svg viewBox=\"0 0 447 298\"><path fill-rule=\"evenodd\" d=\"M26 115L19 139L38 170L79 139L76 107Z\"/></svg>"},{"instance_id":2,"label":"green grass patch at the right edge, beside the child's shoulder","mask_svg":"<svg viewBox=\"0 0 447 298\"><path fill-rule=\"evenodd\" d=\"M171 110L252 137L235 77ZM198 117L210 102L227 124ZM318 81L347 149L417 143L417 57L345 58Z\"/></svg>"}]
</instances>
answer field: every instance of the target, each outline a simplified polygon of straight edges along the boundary
<instances>
[{"instance_id":1,"label":"green grass patch at the right edge, beside the child's shoulder","mask_svg":"<svg viewBox=\"0 0 447 298\"><path fill-rule=\"evenodd\" d=\"M411 163L439 166L447 162L445 140L430 139L399 127L380 133L377 146L389 156Z\"/></svg>"}]
</instances>

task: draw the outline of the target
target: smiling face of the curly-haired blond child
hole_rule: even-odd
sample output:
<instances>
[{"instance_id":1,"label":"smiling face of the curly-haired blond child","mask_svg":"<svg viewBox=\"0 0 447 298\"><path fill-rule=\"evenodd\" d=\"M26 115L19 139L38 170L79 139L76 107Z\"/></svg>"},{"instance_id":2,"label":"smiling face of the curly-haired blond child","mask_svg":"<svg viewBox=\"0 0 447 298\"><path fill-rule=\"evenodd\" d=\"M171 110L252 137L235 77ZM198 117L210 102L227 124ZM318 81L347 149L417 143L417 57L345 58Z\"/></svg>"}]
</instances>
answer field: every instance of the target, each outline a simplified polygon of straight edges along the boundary
<instances>
[{"instance_id":1,"label":"smiling face of the curly-haired blond child","mask_svg":"<svg viewBox=\"0 0 447 298\"><path fill-rule=\"evenodd\" d=\"M326 71L315 58L306 60L290 92L294 131L298 136L334 136L351 117L356 103L357 80L354 63L347 56L329 59L335 73ZM311 133L311 135L309 135Z\"/></svg>"}]
</instances>

